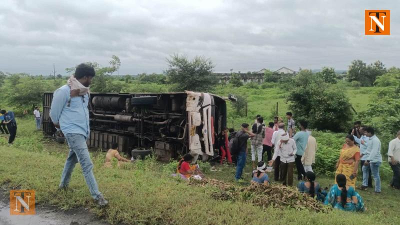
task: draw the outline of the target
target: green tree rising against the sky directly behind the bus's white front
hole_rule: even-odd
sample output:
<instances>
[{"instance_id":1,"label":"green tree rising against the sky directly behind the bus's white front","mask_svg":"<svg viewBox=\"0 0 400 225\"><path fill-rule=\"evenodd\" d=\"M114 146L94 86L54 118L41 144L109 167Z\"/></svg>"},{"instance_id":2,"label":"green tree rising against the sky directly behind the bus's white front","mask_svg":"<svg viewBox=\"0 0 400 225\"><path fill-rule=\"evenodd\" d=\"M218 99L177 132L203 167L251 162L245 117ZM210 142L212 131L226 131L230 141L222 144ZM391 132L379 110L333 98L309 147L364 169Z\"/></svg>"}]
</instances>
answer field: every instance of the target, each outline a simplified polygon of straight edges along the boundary
<instances>
[{"instance_id":1,"label":"green tree rising against the sky directly behind the bus's white front","mask_svg":"<svg viewBox=\"0 0 400 225\"><path fill-rule=\"evenodd\" d=\"M208 58L195 56L189 61L185 55L174 54L167 58L167 62L167 82L175 91L209 91L218 83L212 74L214 64Z\"/></svg>"}]
</instances>

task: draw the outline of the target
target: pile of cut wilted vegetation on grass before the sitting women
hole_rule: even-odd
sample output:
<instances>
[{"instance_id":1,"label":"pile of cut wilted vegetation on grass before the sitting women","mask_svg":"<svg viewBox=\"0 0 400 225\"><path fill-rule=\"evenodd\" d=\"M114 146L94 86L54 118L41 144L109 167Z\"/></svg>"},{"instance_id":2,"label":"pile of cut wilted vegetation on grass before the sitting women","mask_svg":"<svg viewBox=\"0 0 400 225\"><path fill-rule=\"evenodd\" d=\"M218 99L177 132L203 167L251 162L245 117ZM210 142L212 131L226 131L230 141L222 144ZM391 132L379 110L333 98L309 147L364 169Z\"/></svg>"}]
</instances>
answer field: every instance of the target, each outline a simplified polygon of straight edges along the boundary
<instances>
[{"instance_id":1,"label":"pile of cut wilted vegetation on grass before the sitting women","mask_svg":"<svg viewBox=\"0 0 400 225\"><path fill-rule=\"evenodd\" d=\"M241 200L261 207L308 209L325 213L331 210L331 207L325 206L314 198L298 192L294 187L274 184L265 186L258 183L240 187L216 179L191 180L190 184L200 185L205 188L211 187L210 195L219 200ZM217 189L215 190L212 187L217 187Z\"/></svg>"}]
</instances>

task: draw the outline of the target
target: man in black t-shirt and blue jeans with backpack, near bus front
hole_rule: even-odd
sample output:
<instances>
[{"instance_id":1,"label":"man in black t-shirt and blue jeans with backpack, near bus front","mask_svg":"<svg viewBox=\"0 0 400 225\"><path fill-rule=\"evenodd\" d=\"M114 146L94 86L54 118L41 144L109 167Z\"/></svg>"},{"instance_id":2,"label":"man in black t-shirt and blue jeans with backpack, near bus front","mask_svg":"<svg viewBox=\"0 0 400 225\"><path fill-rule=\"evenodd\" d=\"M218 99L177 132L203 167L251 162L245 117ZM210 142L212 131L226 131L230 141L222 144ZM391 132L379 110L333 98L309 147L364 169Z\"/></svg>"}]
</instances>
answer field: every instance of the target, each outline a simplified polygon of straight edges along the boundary
<instances>
[{"instance_id":1,"label":"man in black t-shirt and blue jeans with backpack, near bus front","mask_svg":"<svg viewBox=\"0 0 400 225\"><path fill-rule=\"evenodd\" d=\"M247 156L247 140L250 137L253 137L254 133L248 130L248 124L241 124L241 130L236 133L236 138L239 145L239 152L237 153L237 165L236 165L236 174L235 179L239 180L241 178L241 174L243 172L244 165L246 164L246 156Z\"/></svg>"}]
</instances>

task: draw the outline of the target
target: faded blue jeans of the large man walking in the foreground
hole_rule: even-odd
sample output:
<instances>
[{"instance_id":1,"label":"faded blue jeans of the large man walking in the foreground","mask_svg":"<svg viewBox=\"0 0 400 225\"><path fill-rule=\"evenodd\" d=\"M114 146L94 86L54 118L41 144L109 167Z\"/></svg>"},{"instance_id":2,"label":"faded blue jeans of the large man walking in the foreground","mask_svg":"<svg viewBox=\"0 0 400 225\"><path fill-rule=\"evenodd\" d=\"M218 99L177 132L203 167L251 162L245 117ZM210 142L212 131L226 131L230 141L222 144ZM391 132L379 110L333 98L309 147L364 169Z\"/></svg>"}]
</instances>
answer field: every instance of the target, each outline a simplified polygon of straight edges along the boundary
<instances>
[{"instance_id":1,"label":"faded blue jeans of the large man walking in the foreground","mask_svg":"<svg viewBox=\"0 0 400 225\"><path fill-rule=\"evenodd\" d=\"M68 186L72 170L75 164L79 162L90 194L97 200L102 195L100 191L98 191L97 182L93 175L93 163L90 160L89 151L87 150L86 138L82 134L66 133L65 139L69 146L69 153L65 161L64 169L62 170L59 187Z\"/></svg>"}]
</instances>

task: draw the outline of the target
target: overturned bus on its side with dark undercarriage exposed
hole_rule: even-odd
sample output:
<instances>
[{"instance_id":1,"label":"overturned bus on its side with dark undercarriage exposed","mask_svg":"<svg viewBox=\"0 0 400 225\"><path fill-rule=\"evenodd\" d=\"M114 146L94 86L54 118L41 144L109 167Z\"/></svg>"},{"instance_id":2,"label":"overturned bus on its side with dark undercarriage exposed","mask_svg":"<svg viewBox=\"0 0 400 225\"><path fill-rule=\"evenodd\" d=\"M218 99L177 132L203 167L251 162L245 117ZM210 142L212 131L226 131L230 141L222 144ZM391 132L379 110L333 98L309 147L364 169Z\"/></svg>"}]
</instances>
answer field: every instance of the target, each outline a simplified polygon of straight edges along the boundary
<instances>
[{"instance_id":1,"label":"overturned bus on its side with dark undercarriage exposed","mask_svg":"<svg viewBox=\"0 0 400 225\"><path fill-rule=\"evenodd\" d=\"M52 92L43 96L44 135L63 141L51 122ZM226 102L220 97L192 91L173 93L91 93L89 147L106 150L112 142L129 156L154 152L168 161L190 153L202 160L214 155L216 134L226 126Z\"/></svg>"}]
</instances>

